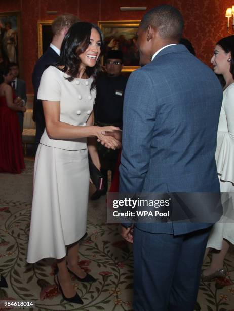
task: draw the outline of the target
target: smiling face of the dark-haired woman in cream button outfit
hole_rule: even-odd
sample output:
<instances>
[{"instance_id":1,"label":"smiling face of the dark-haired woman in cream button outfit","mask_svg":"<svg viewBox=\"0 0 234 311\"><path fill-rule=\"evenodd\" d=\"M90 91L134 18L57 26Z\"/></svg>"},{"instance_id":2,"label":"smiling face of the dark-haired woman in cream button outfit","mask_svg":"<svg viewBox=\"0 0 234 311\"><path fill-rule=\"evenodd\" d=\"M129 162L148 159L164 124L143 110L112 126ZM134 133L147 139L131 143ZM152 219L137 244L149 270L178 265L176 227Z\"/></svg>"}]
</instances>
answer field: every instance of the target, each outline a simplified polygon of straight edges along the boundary
<instances>
[{"instance_id":1,"label":"smiling face of the dark-haired woman in cream button outfit","mask_svg":"<svg viewBox=\"0 0 234 311\"><path fill-rule=\"evenodd\" d=\"M101 37L95 28L92 28L90 42L85 52L79 55L81 67L94 67L101 53Z\"/></svg>"}]
</instances>

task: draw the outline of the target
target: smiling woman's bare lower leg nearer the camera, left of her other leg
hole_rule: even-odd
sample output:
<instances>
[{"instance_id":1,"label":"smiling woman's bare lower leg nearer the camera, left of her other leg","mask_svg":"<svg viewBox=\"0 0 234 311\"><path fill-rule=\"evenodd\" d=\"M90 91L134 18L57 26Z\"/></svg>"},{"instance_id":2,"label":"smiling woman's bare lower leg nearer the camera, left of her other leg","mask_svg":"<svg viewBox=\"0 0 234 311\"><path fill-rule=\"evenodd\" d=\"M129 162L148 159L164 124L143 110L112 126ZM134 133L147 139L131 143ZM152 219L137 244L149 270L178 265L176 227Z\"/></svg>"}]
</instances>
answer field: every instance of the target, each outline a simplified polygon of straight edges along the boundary
<instances>
[{"instance_id":1,"label":"smiling woman's bare lower leg nearer the camera, left of her other leg","mask_svg":"<svg viewBox=\"0 0 234 311\"><path fill-rule=\"evenodd\" d=\"M67 270L66 265L66 257L63 257L62 259L57 260L57 266L58 266L58 280L60 283L60 286L62 288L63 294L67 298L71 298L76 294L76 291L74 290L74 287L71 283L70 274Z\"/></svg>"}]
</instances>

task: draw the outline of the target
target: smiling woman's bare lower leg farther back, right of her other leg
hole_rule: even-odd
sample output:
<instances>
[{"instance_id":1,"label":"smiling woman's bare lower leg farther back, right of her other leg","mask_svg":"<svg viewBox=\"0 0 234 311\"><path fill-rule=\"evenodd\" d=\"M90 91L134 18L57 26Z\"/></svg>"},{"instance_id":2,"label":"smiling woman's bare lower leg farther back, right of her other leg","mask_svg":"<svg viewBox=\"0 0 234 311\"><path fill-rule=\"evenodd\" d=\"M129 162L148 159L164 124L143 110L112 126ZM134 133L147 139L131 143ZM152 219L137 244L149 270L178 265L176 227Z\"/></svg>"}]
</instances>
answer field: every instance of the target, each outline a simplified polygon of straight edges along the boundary
<instances>
[{"instance_id":1,"label":"smiling woman's bare lower leg farther back, right of her other leg","mask_svg":"<svg viewBox=\"0 0 234 311\"><path fill-rule=\"evenodd\" d=\"M80 278L86 277L86 272L81 269L78 265L78 250L79 250L79 243L74 243L68 246L67 252L67 267L73 273L75 273Z\"/></svg>"}]
</instances>

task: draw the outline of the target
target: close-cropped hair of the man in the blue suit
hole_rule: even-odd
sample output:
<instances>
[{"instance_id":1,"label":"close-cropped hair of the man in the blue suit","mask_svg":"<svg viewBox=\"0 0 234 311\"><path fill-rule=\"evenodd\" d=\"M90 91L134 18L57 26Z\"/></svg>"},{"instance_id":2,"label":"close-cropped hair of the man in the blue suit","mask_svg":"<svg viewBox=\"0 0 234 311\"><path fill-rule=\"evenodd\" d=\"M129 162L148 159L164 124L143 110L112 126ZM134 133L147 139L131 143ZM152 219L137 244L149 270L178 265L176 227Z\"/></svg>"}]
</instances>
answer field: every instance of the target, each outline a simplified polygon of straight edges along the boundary
<instances>
[{"instance_id":1,"label":"close-cropped hair of the man in the blue suit","mask_svg":"<svg viewBox=\"0 0 234 311\"><path fill-rule=\"evenodd\" d=\"M154 7L143 16L140 27L146 30L149 25L157 29L163 39L180 40L184 20L176 8L170 5L162 5Z\"/></svg>"}]
</instances>

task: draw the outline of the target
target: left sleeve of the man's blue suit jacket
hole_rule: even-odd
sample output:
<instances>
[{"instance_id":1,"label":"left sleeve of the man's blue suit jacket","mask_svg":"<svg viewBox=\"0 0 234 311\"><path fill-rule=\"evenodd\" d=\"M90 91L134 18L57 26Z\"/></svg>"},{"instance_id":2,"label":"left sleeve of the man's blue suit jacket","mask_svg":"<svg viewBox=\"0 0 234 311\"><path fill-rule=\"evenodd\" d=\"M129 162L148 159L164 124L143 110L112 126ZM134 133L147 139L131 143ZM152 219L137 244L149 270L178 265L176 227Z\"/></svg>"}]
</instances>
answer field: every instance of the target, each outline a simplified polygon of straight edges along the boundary
<instances>
[{"instance_id":1,"label":"left sleeve of the man's blue suit jacket","mask_svg":"<svg viewBox=\"0 0 234 311\"><path fill-rule=\"evenodd\" d=\"M149 75L133 72L127 83L123 114L120 192L142 192L155 126L155 91Z\"/></svg>"}]
</instances>

